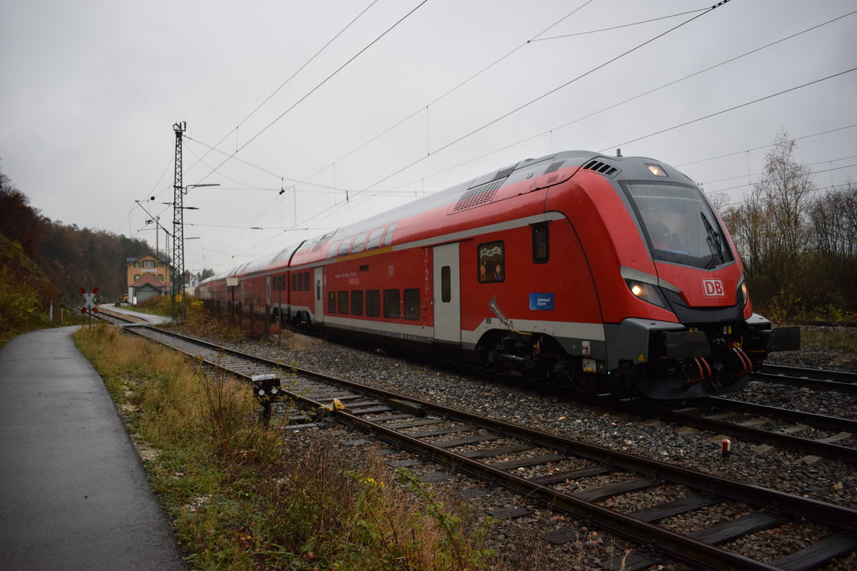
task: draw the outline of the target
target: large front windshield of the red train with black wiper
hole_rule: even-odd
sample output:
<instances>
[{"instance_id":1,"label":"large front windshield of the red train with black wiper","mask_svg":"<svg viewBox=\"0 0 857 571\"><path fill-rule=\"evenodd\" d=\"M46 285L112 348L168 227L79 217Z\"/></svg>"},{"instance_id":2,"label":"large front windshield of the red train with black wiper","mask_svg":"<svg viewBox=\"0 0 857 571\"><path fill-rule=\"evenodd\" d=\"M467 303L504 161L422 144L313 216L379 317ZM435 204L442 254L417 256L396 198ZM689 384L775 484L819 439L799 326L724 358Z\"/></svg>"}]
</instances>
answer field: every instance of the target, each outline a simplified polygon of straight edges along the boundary
<instances>
[{"instance_id":1,"label":"large front windshield of the red train with black wiper","mask_svg":"<svg viewBox=\"0 0 857 571\"><path fill-rule=\"evenodd\" d=\"M712 269L734 257L699 189L668 182L622 184L637 213L652 259Z\"/></svg>"}]
</instances>

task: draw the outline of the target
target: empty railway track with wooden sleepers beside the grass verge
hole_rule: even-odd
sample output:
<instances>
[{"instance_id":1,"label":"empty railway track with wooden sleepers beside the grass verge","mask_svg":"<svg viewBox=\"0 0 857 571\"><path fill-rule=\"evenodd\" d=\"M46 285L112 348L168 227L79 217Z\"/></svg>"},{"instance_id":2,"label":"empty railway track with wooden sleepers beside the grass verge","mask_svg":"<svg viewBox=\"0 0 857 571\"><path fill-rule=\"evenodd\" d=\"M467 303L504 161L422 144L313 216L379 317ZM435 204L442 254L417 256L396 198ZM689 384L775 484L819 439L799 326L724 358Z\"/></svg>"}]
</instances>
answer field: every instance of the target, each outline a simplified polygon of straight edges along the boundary
<instances>
[{"instance_id":1,"label":"empty railway track with wooden sleepers beside the grass verge","mask_svg":"<svg viewBox=\"0 0 857 571\"><path fill-rule=\"evenodd\" d=\"M286 396L309 410L324 410L346 425L428 456L462 473L500 483L551 509L587 520L637 544L656 546L660 556L698 568L811 568L857 550L857 510L811 498L747 485L613 449L580 443L496 419L443 407L315 372L225 350L187 336L142 325L126 328L205 360L255 384L261 396ZM279 379L280 382L275 382ZM527 477L520 475L522 470ZM608 483L605 484L605 478ZM588 485L597 481L596 485ZM608 509L605 498L645 491L655 486L684 486L680 499L631 513ZM718 504L740 503L746 513L689 535L659 522L681 514L704 513ZM773 562L758 562L728 549L753 532L812 521L828 534L804 550ZM564 530L550 534L566 540ZM571 538L572 532L565 532ZM726 545L726 548L717 545ZM788 551L788 550L787 550ZM606 562L626 571L650 566L651 554L635 553L624 561Z\"/></svg>"}]
</instances>

